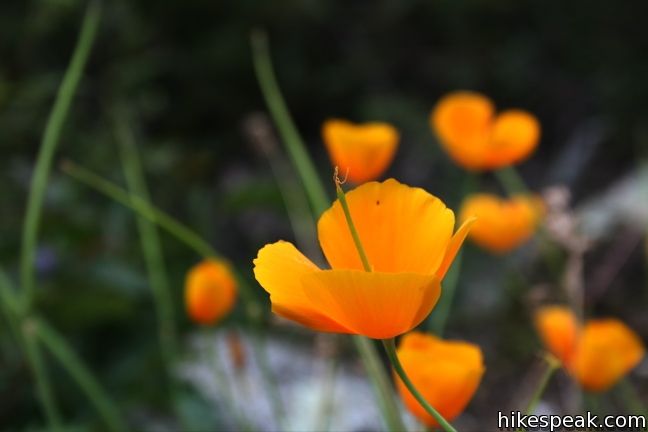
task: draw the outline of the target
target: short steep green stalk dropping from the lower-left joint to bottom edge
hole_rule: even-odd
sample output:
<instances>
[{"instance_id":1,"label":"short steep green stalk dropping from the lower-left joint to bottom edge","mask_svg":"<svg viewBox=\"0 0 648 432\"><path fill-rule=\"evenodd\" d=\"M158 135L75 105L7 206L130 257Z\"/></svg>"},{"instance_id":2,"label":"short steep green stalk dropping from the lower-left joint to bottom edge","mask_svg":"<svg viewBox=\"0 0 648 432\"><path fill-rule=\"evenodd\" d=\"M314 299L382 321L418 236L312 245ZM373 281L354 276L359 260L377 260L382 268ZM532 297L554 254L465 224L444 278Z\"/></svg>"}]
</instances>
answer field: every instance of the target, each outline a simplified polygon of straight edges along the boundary
<instances>
[{"instance_id":1,"label":"short steep green stalk dropping from the lower-left joint to bottom edge","mask_svg":"<svg viewBox=\"0 0 648 432\"><path fill-rule=\"evenodd\" d=\"M25 355L27 356L27 361L34 373L38 398L43 406L48 428L55 432L61 431L61 415L56 406L52 385L49 380L49 374L47 373L47 365L40 349L36 331L34 322L28 321L24 323L23 338L25 341Z\"/></svg>"}]
</instances>

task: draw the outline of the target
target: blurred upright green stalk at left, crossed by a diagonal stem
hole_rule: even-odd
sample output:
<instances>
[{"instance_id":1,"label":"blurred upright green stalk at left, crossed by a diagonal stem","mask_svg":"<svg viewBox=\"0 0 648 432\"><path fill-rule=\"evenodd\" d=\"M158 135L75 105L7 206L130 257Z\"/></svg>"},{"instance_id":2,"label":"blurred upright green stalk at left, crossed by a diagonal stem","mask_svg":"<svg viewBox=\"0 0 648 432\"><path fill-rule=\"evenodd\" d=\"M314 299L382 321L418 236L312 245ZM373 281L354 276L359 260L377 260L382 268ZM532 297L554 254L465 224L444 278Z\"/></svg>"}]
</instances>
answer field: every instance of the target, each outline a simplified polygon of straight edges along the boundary
<instances>
[{"instance_id":1,"label":"blurred upright green stalk at left, crossed by a diagonal stem","mask_svg":"<svg viewBox=\"0 0 648 432\"><path fill-rule=\"evenodd\" d=\"M133 132L121 113L116 113L115 138L120 146L122 166L126 183L131 196L140 196L149 201L142 164L139 159ZM149 284L153 291L158 321L160 346L170 375L177 353L175 313L171 299L171 289L167 278L167 269L162 256L162 242L155 224L148 219L137 216L137 227L144 259L146 261ZM171 377L169 376L169 379Z\"/></svg>"}]
</instances>

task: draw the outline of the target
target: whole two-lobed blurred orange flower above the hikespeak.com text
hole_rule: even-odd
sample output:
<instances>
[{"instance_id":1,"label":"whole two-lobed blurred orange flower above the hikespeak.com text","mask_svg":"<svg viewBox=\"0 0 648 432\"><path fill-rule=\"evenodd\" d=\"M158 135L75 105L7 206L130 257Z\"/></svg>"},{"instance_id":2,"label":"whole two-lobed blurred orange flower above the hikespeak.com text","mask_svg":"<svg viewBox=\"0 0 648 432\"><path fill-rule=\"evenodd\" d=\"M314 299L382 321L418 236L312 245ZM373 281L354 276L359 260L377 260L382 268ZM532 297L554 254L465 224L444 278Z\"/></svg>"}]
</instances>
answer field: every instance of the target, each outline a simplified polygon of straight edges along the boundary
<instances>
[{"instance_id":1,"label":"whole two-lobed blurred orange flower above the hikespeak.com text","mask_svg":"<svg viewBox=\"0 0 648 432\"><path fill-rule=\"evenodd\" d=\"M536 325L547 349L587 391L610 389L645 355L639 336L618 319L592 319L580 329L567 307L549 306L536 313Z\"/></svg>"}]
</instances>

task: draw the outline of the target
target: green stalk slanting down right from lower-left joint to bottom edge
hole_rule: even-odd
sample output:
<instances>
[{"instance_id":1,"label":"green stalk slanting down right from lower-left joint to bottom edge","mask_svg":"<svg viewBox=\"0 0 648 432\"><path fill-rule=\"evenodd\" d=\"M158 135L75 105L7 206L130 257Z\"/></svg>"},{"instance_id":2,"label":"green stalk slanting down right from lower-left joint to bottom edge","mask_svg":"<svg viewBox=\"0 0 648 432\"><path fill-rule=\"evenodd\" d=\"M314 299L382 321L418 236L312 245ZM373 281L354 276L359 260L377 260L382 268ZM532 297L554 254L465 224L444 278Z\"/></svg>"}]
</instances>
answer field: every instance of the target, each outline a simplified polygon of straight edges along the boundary
<instances>
[{"instance_id":1,"label":"green stalk slanting down right from lower-left joint to bottom edge","mask_svg":"<svg viewBox=\"0 0 648 432\"><path fill-rule=\"evenodd\" d=\"M92 372L65 342L65 339L43 320L33 319L32 324L39 341L47 347L81 387L81 390L85 392L108 429L111 431L125 431L126 427L119 409Z\"/></svg>"}]
</instances>

